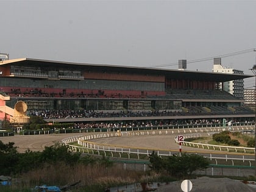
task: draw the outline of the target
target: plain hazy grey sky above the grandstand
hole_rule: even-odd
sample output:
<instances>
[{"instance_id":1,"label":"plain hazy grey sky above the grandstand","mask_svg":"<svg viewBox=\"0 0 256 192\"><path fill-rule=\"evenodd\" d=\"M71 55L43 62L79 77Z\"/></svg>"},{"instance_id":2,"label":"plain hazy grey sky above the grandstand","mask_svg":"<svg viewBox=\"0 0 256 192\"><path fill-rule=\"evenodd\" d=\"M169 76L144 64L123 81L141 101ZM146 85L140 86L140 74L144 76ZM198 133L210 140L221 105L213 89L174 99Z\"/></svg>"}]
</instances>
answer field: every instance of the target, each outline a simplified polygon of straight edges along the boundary
<instances>
[{"instance_id":1,"label":"plain hazy grey sky above the grandstand","mask_svg":"<svg viewBox=\"0 0 256 192\"><path fill-rule=\"evenodd\" d=\"M213 59L189 62L226 55L222 66L244 74L256 64L256 0L0 0L0 7L0 52L10 59L165 69L187 59L188 70L212 71Z\"/></svg>"}]
</instances>

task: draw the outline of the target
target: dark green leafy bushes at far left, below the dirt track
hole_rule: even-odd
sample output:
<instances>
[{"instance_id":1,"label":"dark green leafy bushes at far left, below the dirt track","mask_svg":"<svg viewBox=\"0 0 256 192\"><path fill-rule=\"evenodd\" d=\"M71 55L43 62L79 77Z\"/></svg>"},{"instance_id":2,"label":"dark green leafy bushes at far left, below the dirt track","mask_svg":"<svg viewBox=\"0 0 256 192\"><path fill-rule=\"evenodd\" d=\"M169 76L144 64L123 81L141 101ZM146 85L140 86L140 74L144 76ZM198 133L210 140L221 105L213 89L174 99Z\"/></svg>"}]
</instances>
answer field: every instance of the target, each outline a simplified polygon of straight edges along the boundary
<instances>
[{"instance_id":1,"label":"dark green leafy bushes at far left, below the dirt track","mask_svg":"<svg viewBox=\"0 0 256 192\"><path fill-rule=\"evenodd\" d=\"M73 153L69 147L63 143L55 143L54 146L45 147L42 152L26 151L19 153L14 146L15 143L8 144L0 141L0 173L10 175L12 173L27 172L35 168L48 164L76 165L79 163L80 153ZM107 161L105 161L107 163Z\"/></svg>"}]
</instances>

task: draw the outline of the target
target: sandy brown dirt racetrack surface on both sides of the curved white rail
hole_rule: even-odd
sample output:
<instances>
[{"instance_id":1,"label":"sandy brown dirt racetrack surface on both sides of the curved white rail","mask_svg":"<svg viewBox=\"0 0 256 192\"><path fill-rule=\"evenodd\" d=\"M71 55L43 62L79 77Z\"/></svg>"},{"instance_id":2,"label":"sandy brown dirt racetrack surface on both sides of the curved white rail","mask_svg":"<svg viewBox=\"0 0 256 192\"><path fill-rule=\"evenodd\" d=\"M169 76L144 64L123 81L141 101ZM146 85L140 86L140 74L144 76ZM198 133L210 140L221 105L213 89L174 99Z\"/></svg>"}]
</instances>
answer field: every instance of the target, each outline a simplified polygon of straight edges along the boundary
<instances>
[{"instance_id":1,"label":"sandy brown dirt racetrack surface on both sides of the curved white rail","mask_svg":"<svg viewBox=\"0 0 256 192\"><path fill-rule=\"evenodd\" d=\"M3 143L13 142L18 147L18 152L43 151L45 146L52 146L55 142L61 141L63 138L74 137L78 135L86 135L88 133L66 133L51 135L15 135L12 137L0 137ZM96 143L117 144L121 146L131 146L139 148L158 148L179 150L179 145L175 143L176 135L155 135L142 137L110 137L94 140ZM185 147L183 147L185 148ZM188 148L189 149L189 148Z\"/></svg>"}]
</instances>

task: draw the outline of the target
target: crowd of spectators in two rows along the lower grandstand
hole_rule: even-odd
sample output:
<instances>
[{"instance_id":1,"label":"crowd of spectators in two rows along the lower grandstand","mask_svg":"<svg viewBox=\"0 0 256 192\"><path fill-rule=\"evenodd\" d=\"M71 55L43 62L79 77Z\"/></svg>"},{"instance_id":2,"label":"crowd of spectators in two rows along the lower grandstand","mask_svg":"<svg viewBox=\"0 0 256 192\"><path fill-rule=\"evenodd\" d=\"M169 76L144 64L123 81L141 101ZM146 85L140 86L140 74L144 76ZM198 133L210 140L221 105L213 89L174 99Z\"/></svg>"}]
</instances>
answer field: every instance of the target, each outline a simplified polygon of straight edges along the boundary
<instances>
[{"instance_id":1,"label":"crowd of spectators in two rows along the lower grandstand","mask_svg":"<svg viewBox=\"0 0 256 192\"><path fill-rule=\"evenodd\" d=\"M146 116L178 116L182 112L95 112L90 110L43 110L38 112L32 110L29 116L41 116L44 119L69 119L69 118L114 118L114 117L146 117ZM227 119L227 121L236 122L235 119ZM148 120L129 120L129 121L94 121L94 122L74 122L74 129L102 129L102 128L132 128L132 127L153 127L153 126L199 126L199 125L222 124L222 118L208 118L208 119L148 119Z\"/></svg>"}]
</instances>

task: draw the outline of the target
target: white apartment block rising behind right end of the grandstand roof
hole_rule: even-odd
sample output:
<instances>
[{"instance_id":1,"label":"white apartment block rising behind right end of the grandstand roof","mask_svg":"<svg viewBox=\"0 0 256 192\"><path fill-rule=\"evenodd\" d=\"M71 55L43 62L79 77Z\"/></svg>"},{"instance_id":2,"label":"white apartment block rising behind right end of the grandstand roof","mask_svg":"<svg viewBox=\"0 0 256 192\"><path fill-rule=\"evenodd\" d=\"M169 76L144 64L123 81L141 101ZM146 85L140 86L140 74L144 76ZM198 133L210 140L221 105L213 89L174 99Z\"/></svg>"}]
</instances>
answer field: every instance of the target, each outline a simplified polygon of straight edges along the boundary
<instances>
[{"instance_id":1,"label":"white apartment block rising behind right end of the grandstand roof","mask_svg":"<svg viewBox=\"0 0 256 192\"><path fill-rule=\"evenodd\" d=\"M244 74L243 71L224 67L221 65L221 58L215 58L213 61L213 72L215 73L229 73L229 74ZM244 80L238 79L238 80L230 80L228 82L224 82L221 85L222 89L224 91L227 91L230 94L233 94L233 96L236 96L236 98L244 99Z\"/></svg>"}]
</instances>

